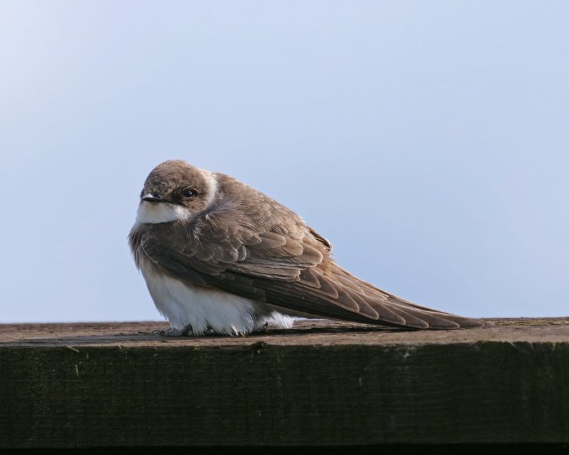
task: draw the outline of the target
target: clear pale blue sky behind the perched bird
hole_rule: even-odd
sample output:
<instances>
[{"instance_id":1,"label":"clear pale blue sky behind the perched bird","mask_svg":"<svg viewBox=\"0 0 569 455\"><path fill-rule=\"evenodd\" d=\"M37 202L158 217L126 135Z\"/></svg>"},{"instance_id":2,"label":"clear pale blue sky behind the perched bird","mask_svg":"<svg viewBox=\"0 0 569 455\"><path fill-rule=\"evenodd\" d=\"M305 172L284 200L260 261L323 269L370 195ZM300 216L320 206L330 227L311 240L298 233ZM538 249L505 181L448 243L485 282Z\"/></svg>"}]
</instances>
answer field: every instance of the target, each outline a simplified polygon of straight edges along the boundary
<instances>
[{"instance_id":1,"label":"clear pale blue sky behind the perched bird","mask_svg":"<svg viewBox=\"0 0 569 455\"><path fill-rule=\"evenodd\" d=\"M160 319L159 162L239 178L380 288L569 311L566 1L0 1L0 322Z\"/></svg>"}]
</instances>

